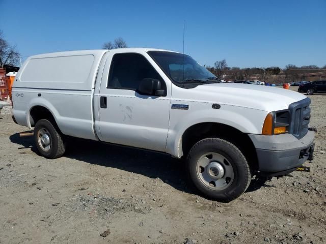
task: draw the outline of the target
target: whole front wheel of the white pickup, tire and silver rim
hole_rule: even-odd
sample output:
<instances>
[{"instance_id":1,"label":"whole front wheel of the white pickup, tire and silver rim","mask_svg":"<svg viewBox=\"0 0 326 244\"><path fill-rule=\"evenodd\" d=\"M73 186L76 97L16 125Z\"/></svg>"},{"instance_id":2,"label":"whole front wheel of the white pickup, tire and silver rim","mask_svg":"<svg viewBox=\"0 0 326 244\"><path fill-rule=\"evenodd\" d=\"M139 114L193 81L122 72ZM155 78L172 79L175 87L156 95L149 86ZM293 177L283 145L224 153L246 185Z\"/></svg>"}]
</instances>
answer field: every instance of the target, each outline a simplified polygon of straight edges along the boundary
<instances>
[{"instance_id":1,"label":"whole front wheel of the white pickup, tire and silver rim","mask_svg":"<svg viewBox=\"0 0 326 244\"><path fill-rule=\"evenodd\" d=\"M245 192L251 181L249 164L241 151L220 138L197 142L187 156L189 177L206 197L231 201Z\"/></svg>"}]
</instances>

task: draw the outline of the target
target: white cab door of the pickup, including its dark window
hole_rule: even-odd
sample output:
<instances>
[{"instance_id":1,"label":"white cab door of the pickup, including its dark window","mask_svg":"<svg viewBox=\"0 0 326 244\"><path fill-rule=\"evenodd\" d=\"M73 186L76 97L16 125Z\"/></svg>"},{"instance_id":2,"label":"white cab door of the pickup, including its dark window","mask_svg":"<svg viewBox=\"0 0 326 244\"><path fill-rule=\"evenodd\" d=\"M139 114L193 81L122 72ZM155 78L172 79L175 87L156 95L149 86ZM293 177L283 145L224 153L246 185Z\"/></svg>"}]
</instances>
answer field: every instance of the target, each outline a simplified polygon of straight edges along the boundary
<instances>
[{"instance_id":1,"label":"white cab door of the pickup, including its dark window","mask_svg":"<svg viewBox=\"0 0 326 244\"><path fill-rule=\"evenodd\" d=\"M98 136L105 142L166 151L171 86L146 54L108 55L97 95ZM140 94L140 82L145 78L160 80L164 95Z\"/></svg>"}]
</instances>

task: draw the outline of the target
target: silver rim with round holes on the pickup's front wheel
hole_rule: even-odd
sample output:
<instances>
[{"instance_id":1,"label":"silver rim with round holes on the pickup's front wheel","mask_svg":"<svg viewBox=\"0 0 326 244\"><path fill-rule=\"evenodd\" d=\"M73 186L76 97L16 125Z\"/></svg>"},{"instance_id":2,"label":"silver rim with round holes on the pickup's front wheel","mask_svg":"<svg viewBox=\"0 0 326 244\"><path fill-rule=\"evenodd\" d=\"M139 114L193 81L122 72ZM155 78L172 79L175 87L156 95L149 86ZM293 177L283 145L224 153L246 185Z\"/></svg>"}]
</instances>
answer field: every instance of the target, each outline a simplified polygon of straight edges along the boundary
<instances>
[{"instance_id":1,"label":"silver rim with round holes on the pickup's front wheel","mask_svg":"<svg viewBox=\"0 0 326 244\"><path fill-rule=\"evenodd\" d=\"M200 157L196 171L202 184L214 191L228 188L234 179L231 163L218 153L206 153Z\"/></svg>"}]
</instances>

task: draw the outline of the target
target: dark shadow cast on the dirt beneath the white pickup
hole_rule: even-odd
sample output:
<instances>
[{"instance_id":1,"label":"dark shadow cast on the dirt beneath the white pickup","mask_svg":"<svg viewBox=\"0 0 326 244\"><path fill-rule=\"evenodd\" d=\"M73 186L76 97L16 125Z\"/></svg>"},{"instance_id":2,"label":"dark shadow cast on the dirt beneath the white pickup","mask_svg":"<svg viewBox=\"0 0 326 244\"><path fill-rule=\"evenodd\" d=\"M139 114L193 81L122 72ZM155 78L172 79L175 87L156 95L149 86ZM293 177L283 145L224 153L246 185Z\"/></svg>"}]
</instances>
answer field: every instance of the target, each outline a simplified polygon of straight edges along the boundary
<instances>
[{"instance_id":1,"label":"dark shadow cast on the dirt beneath the white pickup","mask_svg":"<svg viewBox=\"0 0 326 244\"><path fill-rule=\"evenodd\" d=\"M35 154L38 154L33 136L20 137L19 133L16 133L10 136L10 140L22 146L18 149L31 148ZM86 139L69 138L64 157L117 168L150 178L160 178L179 191L200 195L191 184L188 184L185 162L167 154ZM253 180L247 192L256 191L265 186L264 180Z\"/></svg>"}]
</instances>

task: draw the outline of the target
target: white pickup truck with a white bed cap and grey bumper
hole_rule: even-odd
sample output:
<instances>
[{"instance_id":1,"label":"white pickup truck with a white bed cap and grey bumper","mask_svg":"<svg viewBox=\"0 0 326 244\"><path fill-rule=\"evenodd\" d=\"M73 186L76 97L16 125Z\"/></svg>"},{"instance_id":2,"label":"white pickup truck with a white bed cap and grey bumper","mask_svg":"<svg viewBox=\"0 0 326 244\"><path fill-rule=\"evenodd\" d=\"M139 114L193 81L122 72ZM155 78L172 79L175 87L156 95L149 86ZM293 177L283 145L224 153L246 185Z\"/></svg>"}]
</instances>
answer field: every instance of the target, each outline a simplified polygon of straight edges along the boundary
<instances>
[{"instance_id":1,"label":"white pickup truck with a white bed cap and grey bumper","mask_svg":"<svg viewBox=\"0 0 326 244\"><path fill-rule=\"evenodd\" d=\"M221 83L193 58L173 51L31 56L12 94L13 119L34 127L42 156L61 157L67 136L160 151L184 158L197 189L222 201L246 191L253 175L281 176L313 155L309 98L282 88Z\"/></svg>"}]
</instances>

